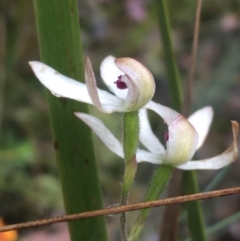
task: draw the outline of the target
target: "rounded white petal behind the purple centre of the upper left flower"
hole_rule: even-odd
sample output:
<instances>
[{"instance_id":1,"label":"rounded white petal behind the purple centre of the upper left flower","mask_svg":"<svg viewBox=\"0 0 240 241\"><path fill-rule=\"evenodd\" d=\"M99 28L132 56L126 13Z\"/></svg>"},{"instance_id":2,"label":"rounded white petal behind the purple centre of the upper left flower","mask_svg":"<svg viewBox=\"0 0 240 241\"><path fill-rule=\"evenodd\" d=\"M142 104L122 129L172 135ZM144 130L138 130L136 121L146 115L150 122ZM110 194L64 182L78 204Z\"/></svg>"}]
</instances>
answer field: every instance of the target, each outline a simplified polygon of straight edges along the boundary
<instances>
[{"instance_id":1,"label":"rounded white petal behind the purple centre of the upper left flower","mask_svg":"<svg viewBox=\"0 0 240 241\"><path fill-rule=\"evenodd\" d=\"M125 75L115 64L113 56L107 56L100 65L100 73L104 83L107 85L116 96L121 99L125 99L128 93L128 89L118 89L114 83L119 76Z\"/></svg>"}]
</instances>

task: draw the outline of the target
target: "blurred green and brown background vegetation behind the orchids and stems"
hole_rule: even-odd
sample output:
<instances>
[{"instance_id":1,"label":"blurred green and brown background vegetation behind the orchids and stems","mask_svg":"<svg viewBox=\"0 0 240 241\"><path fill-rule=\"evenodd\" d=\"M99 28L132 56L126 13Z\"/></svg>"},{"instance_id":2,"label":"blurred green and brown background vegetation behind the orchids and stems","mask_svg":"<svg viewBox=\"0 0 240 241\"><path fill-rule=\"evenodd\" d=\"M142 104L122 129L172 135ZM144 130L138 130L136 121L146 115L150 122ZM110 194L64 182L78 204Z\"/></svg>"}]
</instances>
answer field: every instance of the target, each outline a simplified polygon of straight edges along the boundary
<instances>
[{"instance_id":1,"label":"blurred green and brown background vegetation behind the orchids and stems","mask_svg":"<svg viewBox=\"0 0 240 241\"><path fill-rule=\"evenodd\" d=\"M157 85L154 100L170 105L153 1L78 1L83 50L99 80L101 60L111 54L133 57L152 71ZM172 37L184 90L190 67L195 1L168 1ZM57 39L56 39L57 41ZM198 159L223 152L230 145L230 120L240 120L240 1L203 1L200 39L193 88L192 112L206 105L215 116ZM30 221L64 213L54 160L44 88L28 61L39 60L33 2L0 2L0 216L7 223ZM104 115L90 107L121 139L121 114ZM154 132L163 140L166 125L150 113ZM67 128L67 127L66 127ZM104 206L119 202L123 163L94 137ZM141 163L130 202L142 200L154 165ZM238 160L225 171L199 171L200 190L240 183ZM215 179L216 180L216 179ZM207 226L240 211L239 195L203 201ZM158 240L162 208L149 217L142 240ZM137 212L129 214L130 223ZM110 240L119 240L118 218L108 217ZM179 223L179 240L188 237ZM19 240L69 240L65 225L20 231ZM240 219L209 236L209 240L240 240Z\"/></svg>"}]
</instances>

